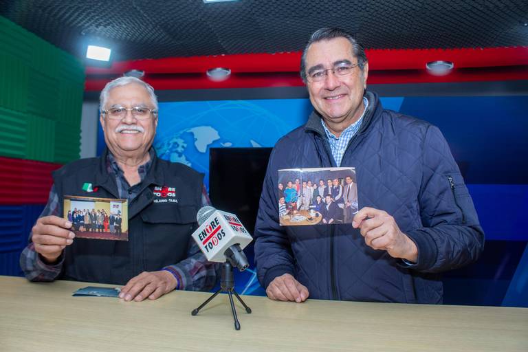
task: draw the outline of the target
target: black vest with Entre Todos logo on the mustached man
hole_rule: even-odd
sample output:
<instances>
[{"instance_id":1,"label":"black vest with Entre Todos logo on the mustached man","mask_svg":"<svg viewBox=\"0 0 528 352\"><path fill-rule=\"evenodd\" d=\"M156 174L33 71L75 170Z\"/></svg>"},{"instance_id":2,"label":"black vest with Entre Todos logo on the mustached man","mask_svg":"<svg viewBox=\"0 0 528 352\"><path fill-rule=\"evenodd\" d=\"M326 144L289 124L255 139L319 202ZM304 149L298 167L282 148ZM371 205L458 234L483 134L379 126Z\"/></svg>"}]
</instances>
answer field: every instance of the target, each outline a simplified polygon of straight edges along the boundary
<instances>
[{"instance_id":1,"label":"black vest with Entre Todos logo on the mustached man","mask_svg":"<svg viewBox=\"0 0 528 352\"><path fill-rule=\"evenodd\" d=\"M119 198L113 174L102 157L80 159L53 173L63 215L63 196ZM124 285L142 272L161 270L187 258L201 207L203 174L184 164L153 158L142 190L129 203L129 241L74 239L64 252L58 279ZM83 190L92 184L94 192ZM174 188L175 195L155 195L155 187ZM168 201L170 198L172 201Z\"/></svg>"}]
</instances>

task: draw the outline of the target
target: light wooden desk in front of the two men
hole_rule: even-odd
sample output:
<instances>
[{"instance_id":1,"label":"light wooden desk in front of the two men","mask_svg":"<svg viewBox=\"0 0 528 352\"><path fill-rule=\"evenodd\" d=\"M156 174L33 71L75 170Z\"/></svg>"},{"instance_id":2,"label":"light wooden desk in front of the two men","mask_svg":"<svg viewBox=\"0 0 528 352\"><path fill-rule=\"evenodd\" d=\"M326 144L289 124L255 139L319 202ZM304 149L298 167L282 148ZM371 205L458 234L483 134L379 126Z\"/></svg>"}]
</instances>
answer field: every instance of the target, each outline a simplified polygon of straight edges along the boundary
<instances>
[{"instance_id":1,"label":"light wooden desk in front of the two men","mask_svg":"<svg viewBox=\"0 0 528 352\"><path fill-rule=\"evenodd\" d=\"M72 297L87 285L0 276L0 351L528 351L527 308L243 296L235 331L226 295L191 316L210 294Z\"/></svg>"}]
</instances>

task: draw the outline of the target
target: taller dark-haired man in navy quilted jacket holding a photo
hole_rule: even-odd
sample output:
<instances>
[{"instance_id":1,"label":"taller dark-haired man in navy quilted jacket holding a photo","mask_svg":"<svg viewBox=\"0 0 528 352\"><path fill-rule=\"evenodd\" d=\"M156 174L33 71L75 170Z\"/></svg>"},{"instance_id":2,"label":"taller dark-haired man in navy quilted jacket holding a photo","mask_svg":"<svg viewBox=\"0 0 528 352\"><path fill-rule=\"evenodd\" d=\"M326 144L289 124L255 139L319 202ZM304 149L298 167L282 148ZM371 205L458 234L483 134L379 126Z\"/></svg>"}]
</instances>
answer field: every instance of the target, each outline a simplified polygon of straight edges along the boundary
<instances>
[{"instance_id":1,"label":"taller dark-haired man in navy quilted jacket holding a photo","mask_svg":"<svg viewBox=\"0 0 528 352\"><path fill-rule=\"evenodd\" d=\"M315 111L277 142L255 228L259 281L274 300L441 303L441 272L472 263L484 234L437 127L384 110L366 91L352 36L312 34L300 74ZM355 167L352 224L280 226L277 170Z\"/></svg>"}]
</instances>

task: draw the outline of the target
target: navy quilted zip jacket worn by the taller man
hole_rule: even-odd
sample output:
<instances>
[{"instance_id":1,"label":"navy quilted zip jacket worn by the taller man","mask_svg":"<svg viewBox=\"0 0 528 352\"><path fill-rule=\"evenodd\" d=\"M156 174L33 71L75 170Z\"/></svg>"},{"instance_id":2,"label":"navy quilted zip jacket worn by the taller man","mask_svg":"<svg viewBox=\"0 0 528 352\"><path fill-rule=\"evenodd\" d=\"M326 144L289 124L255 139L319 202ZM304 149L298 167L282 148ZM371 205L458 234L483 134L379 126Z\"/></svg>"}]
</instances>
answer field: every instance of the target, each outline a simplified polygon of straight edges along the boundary
<instances>
[{"instance_id":1,"label":"navy quilted zip jacket worn by the taller man","mask_svg":"<svg viewBox=\"0 0 528 352\"><path fill-rule=\"evenodd\" d=\"M441 303L441 272L476 261L483 250L472 199L437 127L365 96L369 108L341 166L355 167L360 208L385 210L416 243L417 263L369 248L350 224L278 225L277 170L336 166L314 112L277 142L267 166L254 233L259 281L267 287L289 273L310 298Z\"/></svg>"}]
</instances>

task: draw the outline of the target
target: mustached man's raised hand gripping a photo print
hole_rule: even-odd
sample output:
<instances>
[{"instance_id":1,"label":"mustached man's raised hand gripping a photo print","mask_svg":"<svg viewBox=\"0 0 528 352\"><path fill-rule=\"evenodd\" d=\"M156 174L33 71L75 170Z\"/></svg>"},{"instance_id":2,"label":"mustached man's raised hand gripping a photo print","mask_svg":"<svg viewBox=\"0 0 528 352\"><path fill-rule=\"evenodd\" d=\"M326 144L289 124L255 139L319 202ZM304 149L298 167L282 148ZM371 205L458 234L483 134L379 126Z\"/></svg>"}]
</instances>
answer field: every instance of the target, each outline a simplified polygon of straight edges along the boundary
<instances>
[{"instance_id":1,"label":"mustached man's raised hand gripping a photo print","mask_svg":"<svg viewBox=\"0 0 528 352\"><path fill-rule=\"evenodd\" d=\"M61 217L39 218L32 228L31 241L35 245L35 251L45 261L53 263L67 245L74 243L75 234L70 228L72 223Z\"/></svg>"}]
</instances>

